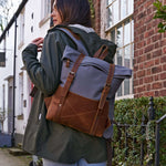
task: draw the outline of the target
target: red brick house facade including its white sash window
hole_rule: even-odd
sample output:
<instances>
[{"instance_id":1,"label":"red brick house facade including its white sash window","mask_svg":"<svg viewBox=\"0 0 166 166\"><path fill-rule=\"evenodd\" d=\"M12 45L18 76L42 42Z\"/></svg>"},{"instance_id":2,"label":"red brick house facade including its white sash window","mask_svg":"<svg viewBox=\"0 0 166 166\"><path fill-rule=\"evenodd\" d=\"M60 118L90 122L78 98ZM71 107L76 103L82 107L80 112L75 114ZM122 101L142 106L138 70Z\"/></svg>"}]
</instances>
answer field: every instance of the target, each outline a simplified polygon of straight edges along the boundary
<instances>
[{"instance_id":1,"label":"red brick house facade including its white sash window","mask_svg":"<svg viewBox=\"0 0 166 166\"><path fill-rule=\"evenodd\" d=\"M166 33L158 33L154 2L94 0L97 33L117 44L115 63L133 69L133 77L117 92L120 98L166 96ZM166 0L160 2L166 6Z\"/></svg>"}]
</instances>

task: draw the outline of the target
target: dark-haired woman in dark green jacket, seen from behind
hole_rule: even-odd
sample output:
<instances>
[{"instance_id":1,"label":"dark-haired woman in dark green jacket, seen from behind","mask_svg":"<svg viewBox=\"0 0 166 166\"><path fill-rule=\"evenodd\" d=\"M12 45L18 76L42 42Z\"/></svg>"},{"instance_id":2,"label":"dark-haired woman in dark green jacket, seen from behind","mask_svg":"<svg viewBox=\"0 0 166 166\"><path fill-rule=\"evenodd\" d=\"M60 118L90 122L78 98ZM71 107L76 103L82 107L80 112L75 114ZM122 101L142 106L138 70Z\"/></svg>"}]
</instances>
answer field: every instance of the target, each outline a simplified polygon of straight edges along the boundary
<instances>
[{"instance_id":1,"label":"dark-haired woman in dark green jacket, seen from behind","mask_svg":"<svg viewBox=\"0 0 166 166\"><path fill-rule=\"evenodd\" d=\"M70 127L45 120L44 97L51 96L59 83L61 58L66 45L76 49L75 43L59 28L66 28L80 37L90 56L102 44L108 45L105 61L112 63L116 45L102 40L92 29L87 0L55 0L52 11L54 28L48 31L44 42L38 38L22 52L28 74L38 87L23 139L23 148L43 158L44 166L106 165L106 143ZM42 46L43 43L43 46ZM38 51L42 48L40 62Z\"/></svg>"}]
</instances>

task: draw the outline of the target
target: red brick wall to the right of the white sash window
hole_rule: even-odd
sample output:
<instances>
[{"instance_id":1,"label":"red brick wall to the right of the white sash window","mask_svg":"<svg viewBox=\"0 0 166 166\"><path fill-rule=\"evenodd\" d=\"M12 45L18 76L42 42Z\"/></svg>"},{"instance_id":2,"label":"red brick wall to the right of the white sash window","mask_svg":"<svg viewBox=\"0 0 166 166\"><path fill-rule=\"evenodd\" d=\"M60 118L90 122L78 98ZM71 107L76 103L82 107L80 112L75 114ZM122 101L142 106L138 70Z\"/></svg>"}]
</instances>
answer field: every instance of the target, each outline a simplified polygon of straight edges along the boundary
<instances>
[{"instance_id":1,"label":"red brick wall to the right of the white sash window","mask_svg":"<svg viewBox=\"0 0 166 166\"><path fill-rule=\"evenodd\" d=\"M135 97L166 96L166 33L157 32L154 1L134 0Z\"/></svg>"}]
</instances>

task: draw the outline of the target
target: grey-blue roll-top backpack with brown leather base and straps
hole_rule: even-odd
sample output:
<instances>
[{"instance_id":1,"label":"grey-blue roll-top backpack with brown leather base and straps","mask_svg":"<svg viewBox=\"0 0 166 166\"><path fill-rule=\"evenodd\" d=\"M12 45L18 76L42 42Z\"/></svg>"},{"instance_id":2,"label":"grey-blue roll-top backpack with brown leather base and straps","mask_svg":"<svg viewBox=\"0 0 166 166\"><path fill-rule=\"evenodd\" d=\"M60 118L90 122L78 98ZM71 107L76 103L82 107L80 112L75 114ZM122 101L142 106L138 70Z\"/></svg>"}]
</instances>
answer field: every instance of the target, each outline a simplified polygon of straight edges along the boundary
<instances>
[{"instance_id":1,"label":"grey-blue roll-top backpack with brown leather base and straps","mask_svg":"<svg viewBox=\"0 0 166 166\"><path fill-rule=\"evenodd\" d=\"M103 61L108 53L106 45L91 58L81 40L69 30L59 29L76 43L77 50L65 46L61 83L52 96L44 98L46 120L102 137L112 123L108 117L112 81L120 66ZM123 70L129 75L125 72L128 69ZM123 80L118 81L118 86Z\"/></svg>"}]
</instances>

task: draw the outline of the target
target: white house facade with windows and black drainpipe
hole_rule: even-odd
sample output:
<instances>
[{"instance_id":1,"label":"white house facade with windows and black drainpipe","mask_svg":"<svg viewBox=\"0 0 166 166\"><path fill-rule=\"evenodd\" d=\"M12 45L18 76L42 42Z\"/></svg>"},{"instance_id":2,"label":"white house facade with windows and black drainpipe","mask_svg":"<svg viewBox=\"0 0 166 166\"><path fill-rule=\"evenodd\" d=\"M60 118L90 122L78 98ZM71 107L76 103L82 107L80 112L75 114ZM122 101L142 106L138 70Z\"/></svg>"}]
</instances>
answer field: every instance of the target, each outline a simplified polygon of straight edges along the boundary
<instances>
[{"instance_id":1,"label":"white house facade with windows and black drainpipe","mask_svg":"<svg viewBox=\"0 0 166 166\"><path fill-rule=\"evenodd\" d=\"M22 50L50 29L51 0L22 0L0 37L6 64L0 64L0 129L13 135L14 144L22 142L32 98L32 83L22 63ZM40 59L40 54L39 54ZM13 89L14 87L14 89Z\"/></svg>"}]
</instances>

